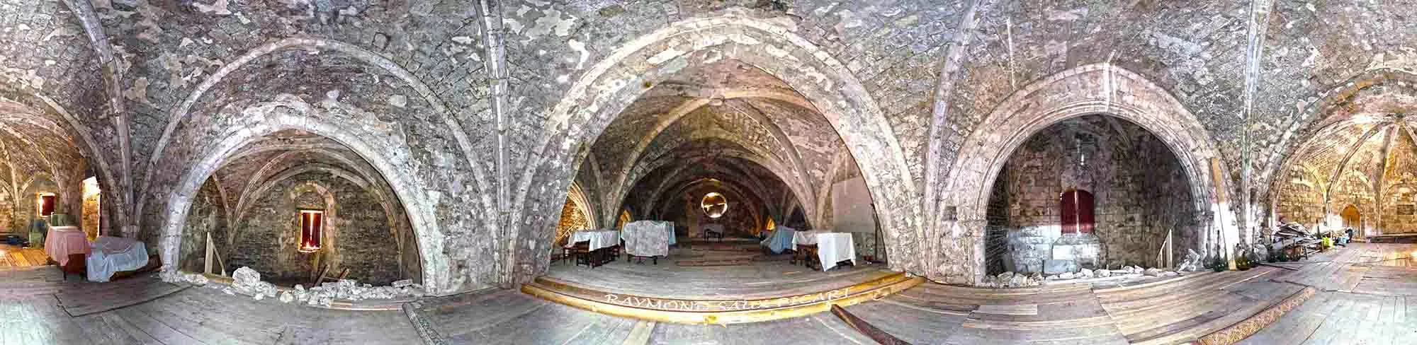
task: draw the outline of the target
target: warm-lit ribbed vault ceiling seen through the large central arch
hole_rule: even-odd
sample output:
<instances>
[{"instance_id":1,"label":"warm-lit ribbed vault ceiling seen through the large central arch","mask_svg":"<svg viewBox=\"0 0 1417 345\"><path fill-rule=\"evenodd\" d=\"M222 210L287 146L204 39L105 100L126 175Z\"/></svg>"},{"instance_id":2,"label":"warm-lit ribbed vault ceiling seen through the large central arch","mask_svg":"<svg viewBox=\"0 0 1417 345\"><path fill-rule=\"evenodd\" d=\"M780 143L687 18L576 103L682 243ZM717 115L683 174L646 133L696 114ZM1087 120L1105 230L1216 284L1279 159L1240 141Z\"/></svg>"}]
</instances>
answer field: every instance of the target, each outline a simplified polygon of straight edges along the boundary
<instances>
[{"instance_id":1,"label":"warm-lit ribbed vault ceiling seen through the large central arch","mask_svg":"<svg viewBox=\"0 0 1417 345\"><path fill-rule=\"evenodd\" d=\"M802 95L752 65L723 59L650 86L589 154L612 198L604 218L618 209L616 191L628 194L626 205L656 208L659 192L710 177L733 177L724 180L745 184L751 199L775 211L784 199L775 189L788 188L812 209L819 189L836 182L833 167L854 170L849 154L836 161L843 151L840 136Z\"/></svg>"}]
</instances>

